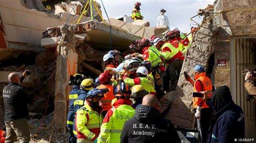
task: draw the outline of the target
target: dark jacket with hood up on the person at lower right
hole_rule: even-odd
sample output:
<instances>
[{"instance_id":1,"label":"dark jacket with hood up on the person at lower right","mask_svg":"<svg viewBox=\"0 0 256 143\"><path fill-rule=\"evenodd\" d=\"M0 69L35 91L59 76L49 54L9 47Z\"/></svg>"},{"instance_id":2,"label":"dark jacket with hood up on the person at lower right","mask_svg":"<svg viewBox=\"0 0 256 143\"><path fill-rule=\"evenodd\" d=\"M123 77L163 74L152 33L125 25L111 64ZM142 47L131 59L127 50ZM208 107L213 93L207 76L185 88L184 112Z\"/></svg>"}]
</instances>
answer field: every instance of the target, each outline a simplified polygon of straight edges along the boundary
<instances>
[{"instance_id":1,"label":"dark jacket with hood up on the person at lower right","mask_svg":"<svg viewBox=\"0 0 256 143\"><path fill-rule=\"evenodd\" d=\"M211 119L207 142L237 142L235 139L243 139L244 113L240 106L232 101L230 89L227 86L216 89L211 101L215 115Z\"/></svg>"}]
</instances>

